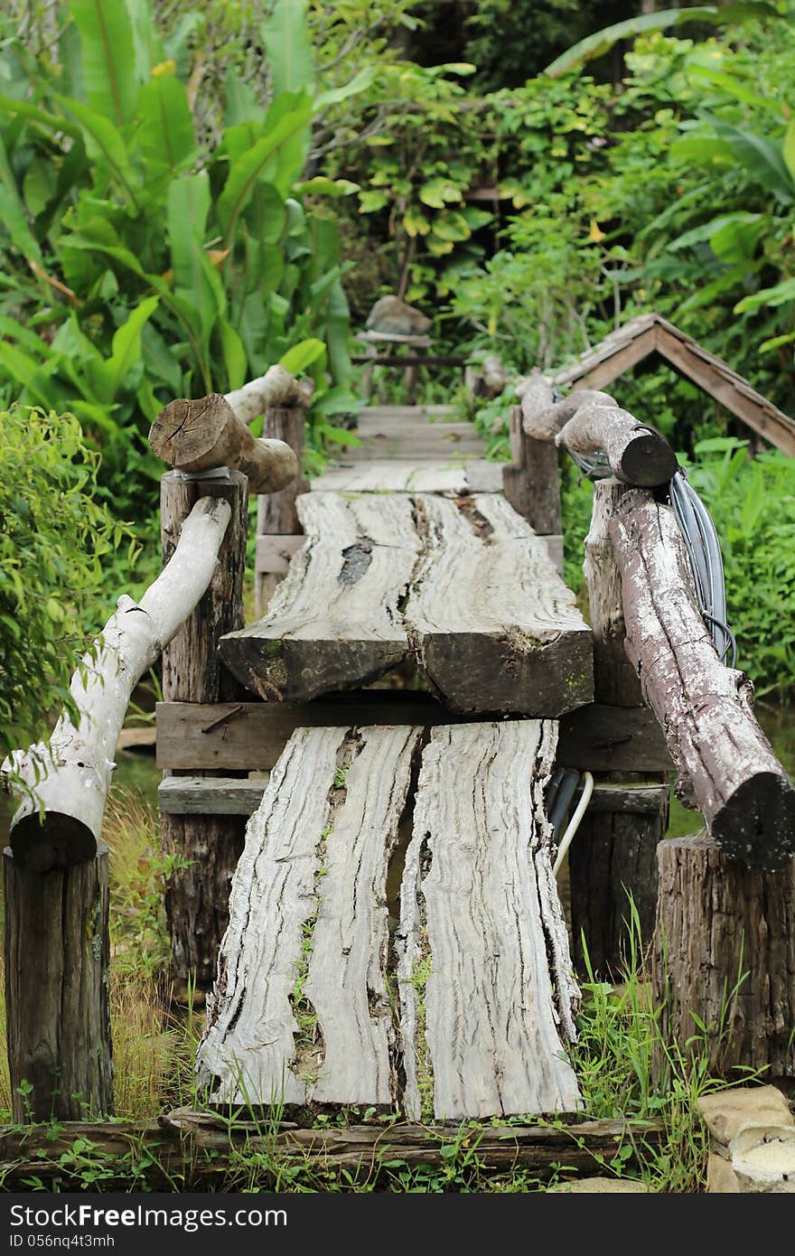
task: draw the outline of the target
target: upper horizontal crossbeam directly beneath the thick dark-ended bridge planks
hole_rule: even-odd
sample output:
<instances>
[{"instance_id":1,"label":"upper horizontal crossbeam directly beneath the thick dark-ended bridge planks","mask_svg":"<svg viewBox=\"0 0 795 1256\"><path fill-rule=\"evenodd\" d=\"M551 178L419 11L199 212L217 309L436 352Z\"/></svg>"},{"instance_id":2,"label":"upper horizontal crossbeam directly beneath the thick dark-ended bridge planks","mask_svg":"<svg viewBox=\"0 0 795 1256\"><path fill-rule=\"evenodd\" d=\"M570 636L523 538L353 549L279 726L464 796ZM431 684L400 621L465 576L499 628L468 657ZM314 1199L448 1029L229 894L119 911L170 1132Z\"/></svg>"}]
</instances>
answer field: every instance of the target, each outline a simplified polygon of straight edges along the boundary
<instances>
[{"instance_id":1,"label":"upper horizontal crossbeam directly beneath the thick dark-ended bridge planks","mask_svg":"<svg viewBox=\"0 0 795 1256\"><path fill-rule=\"evenodd\" d=\"M352 690L314 702L158 702L156 711L157 766L188 774L268 770L293 732L303 727L467 722L430 693L406 690ZM558 764L589 771L673 767L651 711L600 703L561 716Z\"/></svg>"}]
</instances>

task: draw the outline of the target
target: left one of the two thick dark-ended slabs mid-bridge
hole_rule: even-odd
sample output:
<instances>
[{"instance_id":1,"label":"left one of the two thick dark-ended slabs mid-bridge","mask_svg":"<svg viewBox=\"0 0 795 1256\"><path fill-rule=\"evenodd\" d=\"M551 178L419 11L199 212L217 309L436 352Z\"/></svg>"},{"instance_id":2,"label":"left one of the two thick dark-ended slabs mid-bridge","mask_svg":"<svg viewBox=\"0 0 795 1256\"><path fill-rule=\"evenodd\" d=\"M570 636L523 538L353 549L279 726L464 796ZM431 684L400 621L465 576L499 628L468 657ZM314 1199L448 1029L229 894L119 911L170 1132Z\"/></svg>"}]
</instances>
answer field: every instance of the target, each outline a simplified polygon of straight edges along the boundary
<instances>
[{"instance_id":1,"label":"left one of the two thick dark-ended slabs mid-bridge","mask_svg":"<svg viewBox=\"0 0 795 1256\"><path fill-rule=\"evenodd\" d=\"M367 685L409 652L398 603L419 553L411 501L304 494L298 510L305 544L268 614L220 646L230 671L270 701Z\"/></svg>"}]
</instances>

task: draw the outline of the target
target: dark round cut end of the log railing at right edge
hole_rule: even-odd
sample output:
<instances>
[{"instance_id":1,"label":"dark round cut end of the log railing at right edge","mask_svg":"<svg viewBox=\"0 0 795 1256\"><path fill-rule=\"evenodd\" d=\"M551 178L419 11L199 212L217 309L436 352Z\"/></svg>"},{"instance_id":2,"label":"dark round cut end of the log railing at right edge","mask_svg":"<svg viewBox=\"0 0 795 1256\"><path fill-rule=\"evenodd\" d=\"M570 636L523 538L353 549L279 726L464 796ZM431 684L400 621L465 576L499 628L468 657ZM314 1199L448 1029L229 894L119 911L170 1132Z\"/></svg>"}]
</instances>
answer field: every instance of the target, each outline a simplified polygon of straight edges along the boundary
<instances>
[{"instance_id":1,"label":"dark round cut end of the log railing at right edge","mask_svg":"<svg viewBox=\"0 0 795 1256\"><path fill-rule=\"evenodd\" d=\"M751 869L785 868L795 855L795 788L786 776L757 772L727 799L712 836Z\"/></svg>"}]
</instances>

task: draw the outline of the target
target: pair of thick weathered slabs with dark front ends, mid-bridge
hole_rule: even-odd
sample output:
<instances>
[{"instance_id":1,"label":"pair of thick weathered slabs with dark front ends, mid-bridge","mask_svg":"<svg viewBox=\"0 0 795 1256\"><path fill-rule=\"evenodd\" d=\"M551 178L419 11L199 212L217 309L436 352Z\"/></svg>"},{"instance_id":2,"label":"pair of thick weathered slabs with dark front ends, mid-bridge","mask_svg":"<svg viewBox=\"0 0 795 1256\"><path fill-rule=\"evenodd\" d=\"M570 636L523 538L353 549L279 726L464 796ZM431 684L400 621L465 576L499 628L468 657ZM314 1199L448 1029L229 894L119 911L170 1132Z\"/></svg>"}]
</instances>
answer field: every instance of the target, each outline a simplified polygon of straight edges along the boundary
<instances>
[{"instance_id":1,"label":"pair of thick weathered slabs with dark front ends, mid-bridge","mask_svg":"<svg viewBox=\"0 0 795 1256\"><path fill-rule=\"evenodd\" d=\"M592 637L540 538L495 494L299 502L306 544L268 615L221 642L262 698L309 701L416 657L460 711L590 701Z\"/></svg>"}]
</instances>

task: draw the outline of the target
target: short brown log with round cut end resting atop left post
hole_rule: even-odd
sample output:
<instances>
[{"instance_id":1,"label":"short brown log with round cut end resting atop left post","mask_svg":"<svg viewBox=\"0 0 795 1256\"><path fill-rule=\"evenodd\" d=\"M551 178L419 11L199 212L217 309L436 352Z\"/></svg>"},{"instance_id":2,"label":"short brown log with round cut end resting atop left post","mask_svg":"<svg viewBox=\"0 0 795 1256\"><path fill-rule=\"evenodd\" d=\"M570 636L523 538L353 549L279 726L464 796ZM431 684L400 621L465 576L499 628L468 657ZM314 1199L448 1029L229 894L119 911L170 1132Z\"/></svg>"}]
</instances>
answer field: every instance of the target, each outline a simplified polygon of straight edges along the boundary
<instances>
[{"instance_id":1,"label":"short brown log with round cut end resting atop left post","mask_svg":"<svg viewBox=\"0 0 795 1256\"><path fill-rule=\"evenodd\" d=\"M149 446L180 471L198 474L222 466L242 471L251 492L276 492L299 470L289 445L251 436L220 393L168 402L152 425Z\"/></svg>"}]
</instances>

